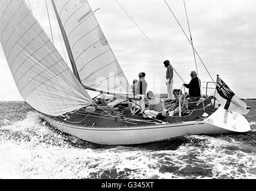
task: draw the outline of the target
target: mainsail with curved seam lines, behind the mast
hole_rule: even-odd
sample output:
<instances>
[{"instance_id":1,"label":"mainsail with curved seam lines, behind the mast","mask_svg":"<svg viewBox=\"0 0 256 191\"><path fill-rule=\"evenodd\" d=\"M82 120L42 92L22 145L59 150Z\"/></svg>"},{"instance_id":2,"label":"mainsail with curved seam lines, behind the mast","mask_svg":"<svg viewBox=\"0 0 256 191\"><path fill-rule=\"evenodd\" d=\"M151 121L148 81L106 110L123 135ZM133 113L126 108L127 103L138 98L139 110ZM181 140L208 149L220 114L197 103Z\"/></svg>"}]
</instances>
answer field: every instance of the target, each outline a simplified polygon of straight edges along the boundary
<instances>
[{"instance_id":1,"label":"mainsail with curved seam lines, behind the mast","mask_svg":"<svg viewBox=\"0 0 256 191\"><path fill-rule=\"evenodd\" d=\"M132 94L94 13L86 0L53 0L86 87L115 94Z\"/></svg>"}]
</instances>

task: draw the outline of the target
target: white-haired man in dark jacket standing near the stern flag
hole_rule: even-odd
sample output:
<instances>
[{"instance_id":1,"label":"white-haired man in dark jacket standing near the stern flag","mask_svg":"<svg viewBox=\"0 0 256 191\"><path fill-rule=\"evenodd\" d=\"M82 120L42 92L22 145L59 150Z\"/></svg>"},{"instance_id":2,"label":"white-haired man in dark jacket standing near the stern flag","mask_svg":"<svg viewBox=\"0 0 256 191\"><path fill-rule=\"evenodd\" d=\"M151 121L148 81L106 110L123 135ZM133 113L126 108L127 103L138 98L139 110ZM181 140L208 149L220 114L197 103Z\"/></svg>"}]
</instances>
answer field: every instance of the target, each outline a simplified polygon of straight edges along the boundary
<instances>
[{"instance_id":1,"label":"white-haired man in dark jacket standing near the stern flag","mask_svg":"<svg viewBox=\"0 0 256 191\"><path fill-rule=\"evenodd\" d=\"M189 94L189 102L198 101L201 98L201 81L197 77L197 72L192 71L190 73L191 81L189 84L183 84L186 88L188 88ZM189 104L189 109L194 109L197 103Z\"/></svg>"}]
</instances>

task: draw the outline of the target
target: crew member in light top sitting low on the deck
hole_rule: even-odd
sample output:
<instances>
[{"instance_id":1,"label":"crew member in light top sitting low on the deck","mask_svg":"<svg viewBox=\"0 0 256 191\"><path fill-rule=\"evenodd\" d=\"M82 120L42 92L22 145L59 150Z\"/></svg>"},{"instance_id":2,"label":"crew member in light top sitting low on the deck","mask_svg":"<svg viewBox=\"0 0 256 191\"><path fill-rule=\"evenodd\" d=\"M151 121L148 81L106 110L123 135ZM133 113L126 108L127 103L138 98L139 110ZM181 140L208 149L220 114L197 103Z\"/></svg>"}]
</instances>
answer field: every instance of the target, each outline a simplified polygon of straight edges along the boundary
<instances>
[{"instance_id":1,"label":"crew member in light top sitting low on the deck","mask_svg":"<svg viewBox=\"0 0 256 191\"><path fill-rule=\"evenodd\" d=\"M164 110L164 106L159 98L155 97L152 91L147 93L149 99L149 107L144 110L144 118L155 118Z\"/></svg>"}]
</instances>

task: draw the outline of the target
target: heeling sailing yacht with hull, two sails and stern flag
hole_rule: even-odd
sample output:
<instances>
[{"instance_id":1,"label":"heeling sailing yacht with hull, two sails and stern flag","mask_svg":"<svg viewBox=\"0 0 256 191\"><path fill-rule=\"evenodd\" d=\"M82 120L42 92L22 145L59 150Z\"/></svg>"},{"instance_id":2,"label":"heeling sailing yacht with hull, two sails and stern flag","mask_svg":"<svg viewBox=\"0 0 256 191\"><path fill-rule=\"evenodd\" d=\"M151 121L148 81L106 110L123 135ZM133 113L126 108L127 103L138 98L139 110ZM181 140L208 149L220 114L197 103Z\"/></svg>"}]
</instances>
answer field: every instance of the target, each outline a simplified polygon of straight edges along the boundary
<instances>
[{"instance_id":1,"label":"heeling sailing yacht with hull, two sails and stern flag","mask_svg":"<svg viewBox=\"0 0 256 191\"><path fill-rule=\"evenodd\" d=\"M189 115L182 110L161 119L134 115L132 105L137 106L141 97L133 95L88 1L52 0L52 5L73 71L23 0L1 0L0 36L21 96L53 127L109 145L251 130L243 116L248 113L246 104L219 77L218 109L212 97L204 95ZM101 97L92 98L88 90ZM109 101L118 104L108 107Z\"/></svg>"}]
</instances>

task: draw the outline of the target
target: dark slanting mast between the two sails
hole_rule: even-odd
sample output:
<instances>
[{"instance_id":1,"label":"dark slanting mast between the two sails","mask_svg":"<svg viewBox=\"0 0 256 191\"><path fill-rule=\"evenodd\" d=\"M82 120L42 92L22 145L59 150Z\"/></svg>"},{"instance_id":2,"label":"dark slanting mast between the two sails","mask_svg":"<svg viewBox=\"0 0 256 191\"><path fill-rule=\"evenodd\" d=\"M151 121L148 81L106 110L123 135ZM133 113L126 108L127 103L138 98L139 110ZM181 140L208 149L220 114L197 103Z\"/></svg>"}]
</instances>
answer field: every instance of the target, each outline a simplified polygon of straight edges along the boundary
<instances>
[{"instance_id":1,"label":"dark slanting mast between the two sails","mask_svg":"<svg viewBox=\"0 0 256 191\"><path fill-rule=\"evenodd\" d=\"M56 8L56 6L55 6L55 2L54 2L53 0L51 0L51 1L52 1L53 9L54 9L54 11L55 11L55 15L56 15L57 20L58 20L58 23L59 23L59 28L61 29L61 33L62 33L62 37L63 37L64 42L65 42L65 46L66 46L66 48L67 48L68 57L70 57L70 62L71 62L71 66L72 66L74 75L76 76L76 78L77 78L77 79L79 80L79 82L81 83L81 79L80 79L79 73L78 73L78 71L77 71L76 63L75 63L75 61L74 61L74 57L73 57L73 54L72 54L72 51L71 51L71 48L70 48L70 43L68 42L67 34L66 34L65 29L64 29L64 27L63 27L61 18L59 17L57 8ZM81 83L81 84L82 84L82 83Z\"/></svg>"}]
</instances>

